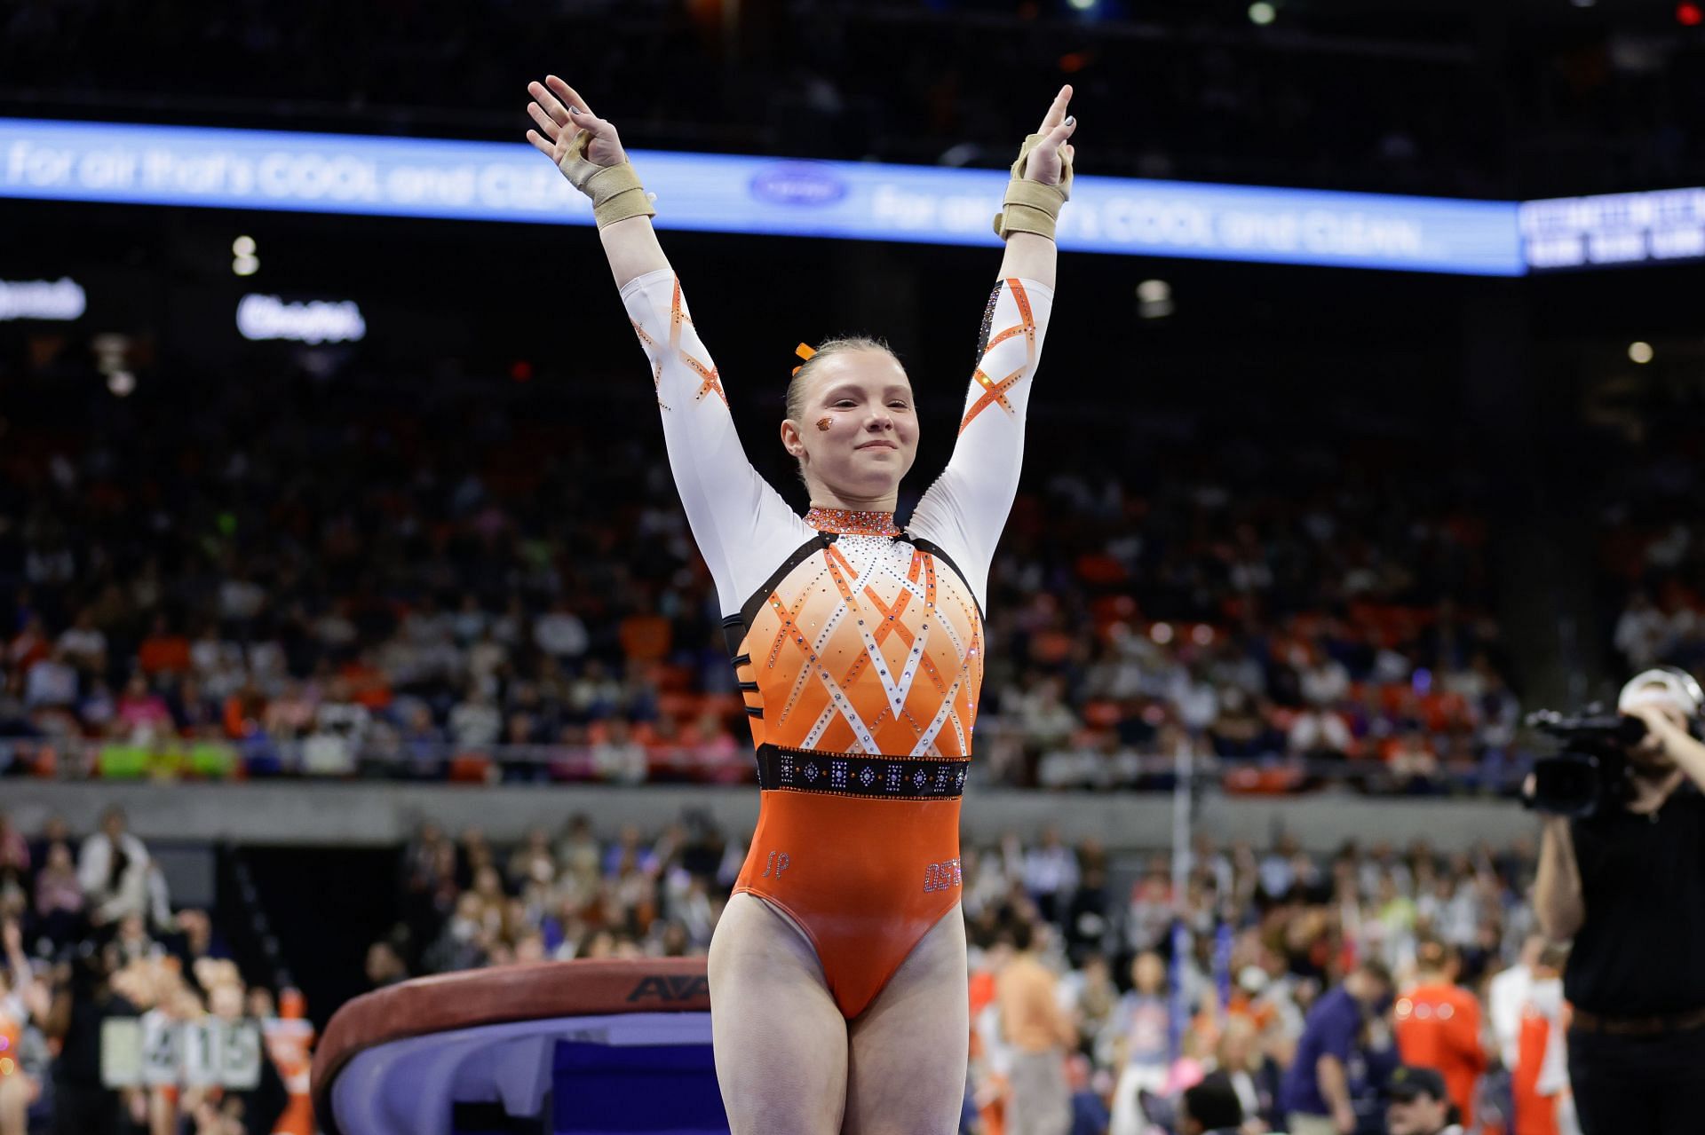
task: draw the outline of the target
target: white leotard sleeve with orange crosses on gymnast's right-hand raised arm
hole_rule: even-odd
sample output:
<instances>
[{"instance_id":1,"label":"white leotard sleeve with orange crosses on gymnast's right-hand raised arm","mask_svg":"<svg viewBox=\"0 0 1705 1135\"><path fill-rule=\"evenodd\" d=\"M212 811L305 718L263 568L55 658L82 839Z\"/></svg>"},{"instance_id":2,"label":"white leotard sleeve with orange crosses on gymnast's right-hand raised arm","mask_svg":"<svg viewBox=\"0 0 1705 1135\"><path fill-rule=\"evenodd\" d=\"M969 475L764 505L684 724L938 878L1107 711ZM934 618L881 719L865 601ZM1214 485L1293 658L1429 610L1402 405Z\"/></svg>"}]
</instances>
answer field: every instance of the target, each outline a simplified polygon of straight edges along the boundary
<instances>
[{"instance_id":1,"label":"white leotard sleeve with orange crosses on gymnast's right-hand raised arm","mask_svg":"<svg viewBox=\"0 0 1705 1135\"><path fill-rule=\"evenodd\" d=\"M1035 279L996 285L984 312L977 370L953 457L907 527L953 559L979 603L989 598L994 545L1018 494L1025 407L1052 310L1054 290Z\"/></svg>"}]
</instances>

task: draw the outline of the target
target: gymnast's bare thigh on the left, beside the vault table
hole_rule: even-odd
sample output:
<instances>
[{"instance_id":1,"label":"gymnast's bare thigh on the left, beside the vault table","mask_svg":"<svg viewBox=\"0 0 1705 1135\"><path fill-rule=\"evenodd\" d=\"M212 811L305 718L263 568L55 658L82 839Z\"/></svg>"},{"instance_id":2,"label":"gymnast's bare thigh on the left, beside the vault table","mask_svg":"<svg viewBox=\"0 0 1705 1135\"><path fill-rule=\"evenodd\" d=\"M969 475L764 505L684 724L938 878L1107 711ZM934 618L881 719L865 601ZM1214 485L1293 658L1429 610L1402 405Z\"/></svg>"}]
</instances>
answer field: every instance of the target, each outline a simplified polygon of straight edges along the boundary
<instances>
[{"instance_id":1,"label":"gymnast's bare thigh on the left, beside the vault table","mask_svg":"<svg viewBox=\"0 0 1705 1135\"><path fill-rule=\"evenodd\" d=\"M711 936L711 1041L733 1135L835 1135L846 1108L847 1023L817 951L752 895Z\"/></svg>"}]
</instances>

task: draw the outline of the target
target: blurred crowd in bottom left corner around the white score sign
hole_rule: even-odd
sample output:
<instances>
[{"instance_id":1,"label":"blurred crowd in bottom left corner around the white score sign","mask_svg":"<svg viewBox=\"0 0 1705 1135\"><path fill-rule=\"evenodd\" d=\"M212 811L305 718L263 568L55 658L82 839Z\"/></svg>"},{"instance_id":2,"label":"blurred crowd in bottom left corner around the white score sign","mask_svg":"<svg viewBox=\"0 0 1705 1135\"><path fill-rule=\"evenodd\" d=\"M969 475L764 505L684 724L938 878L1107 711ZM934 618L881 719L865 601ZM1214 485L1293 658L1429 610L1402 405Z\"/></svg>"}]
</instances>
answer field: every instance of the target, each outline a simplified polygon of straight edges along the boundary
<instances>
[{"instance_id":1,"label":"blurred crowd in bottom left corner around the white score sign","mask_svg":"<svg viewBox=\"0 0 1705 1135\"><path fill-rule=\"evenodd\" d=\"M314 1130L300 992L242 971L210 912L172 903L123 811L82 838L0 813L0 1135ZM136 1023L128 1055L104 1036L119 1021ZM188 1041L172 1036L213 1023L252 1026L252 1084L186 1082ZM160 1038L165 1051L145 1053ZM169 1075L153 1075L162 1062Z\"/></svg>"}]
</instances>

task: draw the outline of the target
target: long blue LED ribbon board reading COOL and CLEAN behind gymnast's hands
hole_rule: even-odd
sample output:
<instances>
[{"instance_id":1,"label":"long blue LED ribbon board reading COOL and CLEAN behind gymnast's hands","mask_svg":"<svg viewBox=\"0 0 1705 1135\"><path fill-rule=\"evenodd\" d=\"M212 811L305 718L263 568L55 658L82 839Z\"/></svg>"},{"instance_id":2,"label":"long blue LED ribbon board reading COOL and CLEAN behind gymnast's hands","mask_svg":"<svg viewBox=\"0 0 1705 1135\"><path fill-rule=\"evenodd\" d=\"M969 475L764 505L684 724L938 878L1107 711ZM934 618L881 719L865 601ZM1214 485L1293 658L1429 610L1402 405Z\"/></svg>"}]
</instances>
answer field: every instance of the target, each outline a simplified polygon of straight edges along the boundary
<instances>
[{"instance_id":1,"label":"long blue LED ribbon board reading COOL and CLEAN behind gymnast's hands","mask_svg":"<svg viewBox=\"0 0 1705 1135\"><path fill-rule=\"evenodd\" d=\"M636 150L660 228L996 242L1001 170ZM0 119L0 198L590 225L525 143ZM1078 177L1059 244L1081 252L1526 271L1509 201Z\"/></svg>"}]
</instances>

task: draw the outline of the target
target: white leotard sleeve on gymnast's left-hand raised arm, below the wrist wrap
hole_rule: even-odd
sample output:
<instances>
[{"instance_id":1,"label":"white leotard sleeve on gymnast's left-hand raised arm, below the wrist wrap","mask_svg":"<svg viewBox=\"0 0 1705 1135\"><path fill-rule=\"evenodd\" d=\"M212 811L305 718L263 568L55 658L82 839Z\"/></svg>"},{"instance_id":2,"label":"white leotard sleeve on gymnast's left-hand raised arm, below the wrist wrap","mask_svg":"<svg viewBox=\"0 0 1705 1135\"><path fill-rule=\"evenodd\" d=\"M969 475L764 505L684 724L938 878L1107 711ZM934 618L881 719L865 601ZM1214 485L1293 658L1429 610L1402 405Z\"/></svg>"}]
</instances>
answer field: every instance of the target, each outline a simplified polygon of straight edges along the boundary
<instances>
[{"instance_id":1,"label":"white leotard sleeve on gymnast's left-hand raised arm, below the wrist wrap","mask_svg":"<svg viewBox=\"0 0 1705 1135\"><path fill-rule=\"evenodd\" d=\"M631 279L622 303L651 360L668 467L692 539L716 581L723 614L731 615L815 530L747 460L721 375L692 326L675 273L665 268Z\"/></svg>"}]
</instances>

